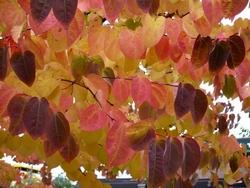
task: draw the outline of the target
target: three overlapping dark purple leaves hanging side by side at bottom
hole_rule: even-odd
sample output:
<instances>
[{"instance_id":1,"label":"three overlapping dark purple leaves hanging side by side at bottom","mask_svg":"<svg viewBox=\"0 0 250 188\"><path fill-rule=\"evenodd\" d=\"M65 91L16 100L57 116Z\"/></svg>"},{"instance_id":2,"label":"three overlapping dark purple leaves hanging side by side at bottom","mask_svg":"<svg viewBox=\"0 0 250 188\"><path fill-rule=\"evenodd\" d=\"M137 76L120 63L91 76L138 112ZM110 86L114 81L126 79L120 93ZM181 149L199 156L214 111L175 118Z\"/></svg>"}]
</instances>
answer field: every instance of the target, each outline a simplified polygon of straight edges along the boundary
<instances>
[{"instance_id":1,"label":"three overlapping dark purple leaves hanging side by side at bottom","mask_svg":"<svg viewBox=\"0 0 250 188\"><path fill-rule=\"evenodd\" d=\"M151 142L148 151L148 173L151 187L164 185L180 169L187 180L200 163L200 147L192 138L168 137Z\"/></svg>"}]
</instances>

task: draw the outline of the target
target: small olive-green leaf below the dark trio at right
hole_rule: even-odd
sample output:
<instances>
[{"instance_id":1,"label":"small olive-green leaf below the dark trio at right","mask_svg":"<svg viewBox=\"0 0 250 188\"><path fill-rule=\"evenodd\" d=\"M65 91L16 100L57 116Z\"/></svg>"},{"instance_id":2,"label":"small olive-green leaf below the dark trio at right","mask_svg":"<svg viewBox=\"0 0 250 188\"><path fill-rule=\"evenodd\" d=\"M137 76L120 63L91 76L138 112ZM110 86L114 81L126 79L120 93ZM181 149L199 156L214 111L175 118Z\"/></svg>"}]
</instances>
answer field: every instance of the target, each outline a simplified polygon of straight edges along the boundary
<instances>
[{"instance_id":1,"label":"small olive-green leaf below the dark trio at right","mask_svg":"<svg viewBox=\"0 0 250 188\"><path fill-rule=\"evenodd\" d=\"M233 97L236 90L236 82L233 75L225 75L224 86L222 88L223 94L227 97Z\"/></svg>"}]
</instances>

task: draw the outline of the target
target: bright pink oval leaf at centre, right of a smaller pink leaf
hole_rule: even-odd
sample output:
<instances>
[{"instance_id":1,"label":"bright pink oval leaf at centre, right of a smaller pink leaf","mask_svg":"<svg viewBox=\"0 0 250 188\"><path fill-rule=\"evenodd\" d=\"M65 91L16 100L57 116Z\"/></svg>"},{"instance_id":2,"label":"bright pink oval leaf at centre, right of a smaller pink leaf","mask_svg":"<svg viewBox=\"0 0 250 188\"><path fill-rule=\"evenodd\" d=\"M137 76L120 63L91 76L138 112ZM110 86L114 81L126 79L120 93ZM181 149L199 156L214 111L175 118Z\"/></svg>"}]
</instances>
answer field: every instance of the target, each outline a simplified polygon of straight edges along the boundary
<instances>
[{"instance_id":1,"label":"bright pink oval leaf at centre, right of a smaller pink leaf","mask_svg":"<svg viewBox=\"0 0 250 188\"><path fill-rule=\"evenodd\" d=\"M151 83L147 78L135 77L132 80L131 96L137 106L145 101L150 101Z\"/></svg>"}]
</instances>

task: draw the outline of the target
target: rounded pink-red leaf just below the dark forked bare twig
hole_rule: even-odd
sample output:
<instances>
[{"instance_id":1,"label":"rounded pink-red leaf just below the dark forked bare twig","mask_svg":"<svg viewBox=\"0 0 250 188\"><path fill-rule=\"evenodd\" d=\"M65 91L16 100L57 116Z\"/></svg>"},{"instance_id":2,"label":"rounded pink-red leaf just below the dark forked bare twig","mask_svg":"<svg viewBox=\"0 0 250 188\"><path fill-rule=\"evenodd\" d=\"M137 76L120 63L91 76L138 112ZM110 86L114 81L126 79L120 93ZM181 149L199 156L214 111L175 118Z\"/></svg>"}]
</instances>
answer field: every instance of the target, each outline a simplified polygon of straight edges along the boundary
<instances>
[{"instance_id":1,"label":"rounded pink-red leaf just below the dark forked bare twig","mask_svg":"<svg viewBox=\"0 0 250 188\"><path fill-rule=\"evenodd\" d=\"M79 112L80 127L84 131L97 131L107 124L106 113L98 106L92 104Z\"/></svg>"}]
</instances>

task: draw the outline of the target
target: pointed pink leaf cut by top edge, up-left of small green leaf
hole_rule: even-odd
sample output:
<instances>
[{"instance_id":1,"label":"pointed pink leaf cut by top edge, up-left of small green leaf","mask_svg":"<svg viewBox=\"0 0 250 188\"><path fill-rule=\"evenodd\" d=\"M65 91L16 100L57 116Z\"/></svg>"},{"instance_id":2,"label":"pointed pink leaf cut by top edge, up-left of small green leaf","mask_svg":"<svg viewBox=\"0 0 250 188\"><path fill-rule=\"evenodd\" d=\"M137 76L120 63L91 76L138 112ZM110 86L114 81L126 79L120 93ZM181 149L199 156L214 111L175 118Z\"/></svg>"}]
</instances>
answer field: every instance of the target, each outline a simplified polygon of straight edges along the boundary
<instances>
[{"instance_id":1,"label":"pointed pink leaf cut by top edge, up-left of small green leaf","mask_svg":"<svg viewBox=\"0 0 250 188\"><path fill-rule=\"evenodd\" d=\"M111 23L119 16L124 6L124 0L103 0L106 16Z\"/></svg>"}]
</instances>

